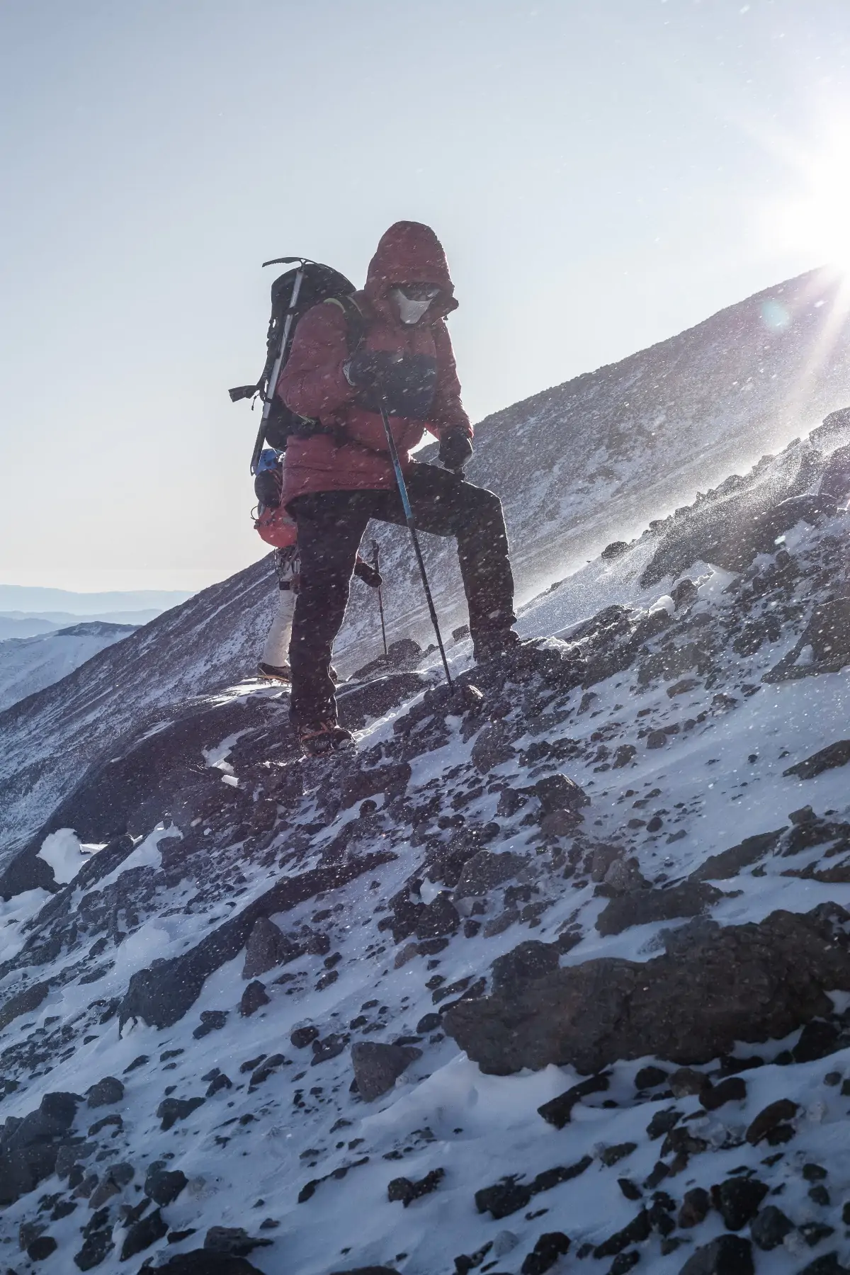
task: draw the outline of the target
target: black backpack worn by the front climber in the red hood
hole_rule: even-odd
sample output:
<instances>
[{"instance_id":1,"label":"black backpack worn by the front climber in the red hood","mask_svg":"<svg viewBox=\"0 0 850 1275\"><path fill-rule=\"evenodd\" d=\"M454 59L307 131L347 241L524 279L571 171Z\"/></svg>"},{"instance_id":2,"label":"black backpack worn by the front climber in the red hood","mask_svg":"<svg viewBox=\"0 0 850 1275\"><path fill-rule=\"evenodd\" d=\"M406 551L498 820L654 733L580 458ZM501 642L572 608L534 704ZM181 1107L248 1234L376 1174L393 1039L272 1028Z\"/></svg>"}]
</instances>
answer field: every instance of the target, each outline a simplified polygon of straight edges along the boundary
<instances>
[{"instance_id":1,"label":"black backpack worn by the front climber in the red hood","mask_svg":"<svg viewBox=\"0 0 850 1275\"><path fill-rule=\"evenodd\" d=\"M274 448L275 451L285 451L287 442L292 435L305 436L326 432L325 427L317 421L306 419L291 412L274 393L275 385L271 384L271 375L278 356L282 354L278 376L289 357L298 320L307 310L312 310L320 302L331 301L339 305L345 314L348 348L352 353L361 343L364 332L363 316L357 303L352 300L352 293L356 291L354 284L344 274L340 274L339 270L334 270L329 265L321 265L319 261L308 261L297 256L278 258L274 261L264 261L263 264L280 265L291 261L298 261L299 265L293 270L287 270L284 274L278 275L271 284L271 316L266 333L266 358L260 379L255 385L237 385L229 390L233 403L237 403L240 399L254 398L257 394L263 399L263 422L254 449L251 462L252 473L256 470L257 458L264 444ZM301 274L301 287L293 306L292 293L298 274ZM289 332L285 333L288 315L292 315L292 323L289 324ZM282 351L284 334L285 348Z\"/></svg>"}]
</instances>

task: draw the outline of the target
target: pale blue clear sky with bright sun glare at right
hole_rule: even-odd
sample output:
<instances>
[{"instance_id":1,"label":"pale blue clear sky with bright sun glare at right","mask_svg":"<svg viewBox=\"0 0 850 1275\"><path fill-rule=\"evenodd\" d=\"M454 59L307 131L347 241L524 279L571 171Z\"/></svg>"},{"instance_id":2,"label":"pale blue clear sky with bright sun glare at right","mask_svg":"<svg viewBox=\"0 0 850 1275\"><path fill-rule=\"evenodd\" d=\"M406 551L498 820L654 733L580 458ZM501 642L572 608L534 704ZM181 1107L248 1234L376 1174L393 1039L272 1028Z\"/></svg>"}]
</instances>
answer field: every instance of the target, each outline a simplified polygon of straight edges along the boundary
<instances>
[{"instance_id":1,"label":"pale blue clear sky with bright sun glare at right","mask_svg":"<svg viewBox=\"0 0 850 1275\"><path fill-rule=\"evenodd\" d=\"M432 224L474 421L850 263L849 48L847 0L0 0L0 583L263 556L268 258Z\"/></svg>"}]
</instances>

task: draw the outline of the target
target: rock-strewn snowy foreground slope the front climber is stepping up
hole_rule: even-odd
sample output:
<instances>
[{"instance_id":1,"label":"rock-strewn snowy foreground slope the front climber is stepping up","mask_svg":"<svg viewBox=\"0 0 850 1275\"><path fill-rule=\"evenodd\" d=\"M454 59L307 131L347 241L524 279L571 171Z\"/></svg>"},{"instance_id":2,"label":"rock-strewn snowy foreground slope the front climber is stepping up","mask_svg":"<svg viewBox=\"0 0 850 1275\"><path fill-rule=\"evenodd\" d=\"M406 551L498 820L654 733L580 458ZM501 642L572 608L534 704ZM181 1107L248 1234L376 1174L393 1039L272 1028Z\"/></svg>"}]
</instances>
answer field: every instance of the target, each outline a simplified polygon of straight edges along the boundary
<instances>
[{"instance_id":1,"label":"rock-strewn snowy foreground slope the front climber is stepping up","mask_svg":"<svg viewBox=\"0 0 850 1275\"><path fill-rule=\"evenodd\" d=\"M113 745L0 931L15 1269L846 1271L847 496L791 444L357 759L251 685Z\"/></svg>"}]
</instances>

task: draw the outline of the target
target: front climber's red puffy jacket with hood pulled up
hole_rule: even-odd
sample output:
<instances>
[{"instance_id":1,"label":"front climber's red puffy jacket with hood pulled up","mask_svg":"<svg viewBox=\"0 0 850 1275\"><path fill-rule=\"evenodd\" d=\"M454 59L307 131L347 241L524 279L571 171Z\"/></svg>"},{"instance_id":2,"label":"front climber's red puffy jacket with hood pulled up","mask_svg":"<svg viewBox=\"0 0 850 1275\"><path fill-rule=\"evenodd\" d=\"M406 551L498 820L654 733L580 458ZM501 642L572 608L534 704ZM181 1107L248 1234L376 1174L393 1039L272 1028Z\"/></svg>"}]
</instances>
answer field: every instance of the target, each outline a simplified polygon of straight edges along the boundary
<instances>
[{"instance_id":1,"label":"front climber's red puffy jacket with hood pulled up","mask_svg":"<svg viewBox=\"0 0 850 1275\"><path fill-rule=\"evenodd\" d=\"M400 283L433 283L440 296L418 324L405 325L389 298ZM410 460L426 430L441 437L446 430L473 435L460 402L446 315L455 310L454 284L446 255L435 232L421 222L396 222L381 237L354 301L366 320L361 349L428 354L437 361L437 388L427 421L394 416L390 427L401 465ZM283 468L283 502L313 491L362 491L395 487L384 423L377 412L354 402L343 363L350 357L348 326L339 306L326 302L308 310L296 329L292 351L277 393L298 416L311 417L336 433L291 437Z\"/></svg>"}]
</instances>

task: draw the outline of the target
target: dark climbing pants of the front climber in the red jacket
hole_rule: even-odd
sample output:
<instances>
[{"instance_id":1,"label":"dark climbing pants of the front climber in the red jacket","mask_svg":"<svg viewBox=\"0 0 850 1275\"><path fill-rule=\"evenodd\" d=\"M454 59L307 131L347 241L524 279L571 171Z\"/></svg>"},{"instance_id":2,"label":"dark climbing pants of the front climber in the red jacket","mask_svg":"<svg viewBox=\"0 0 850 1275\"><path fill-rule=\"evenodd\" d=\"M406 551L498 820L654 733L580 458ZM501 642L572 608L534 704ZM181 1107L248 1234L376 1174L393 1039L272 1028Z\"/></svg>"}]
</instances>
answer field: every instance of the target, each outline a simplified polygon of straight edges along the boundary
<instances>
[{"instance_id":1,"label":"dark climbing pants of the front climber in the red jacket","mask_svg":"<svg viewBox=\"0 0 850 1275\"><path fill-rule=\"evenodd\" d=\"M514 578L498 496L436 465L413 463L405 479L417 530L457 538L473 639L510 629L516 618ZM302 725L336 717L328 671L363 532L372 518L401 527L405 519L395 490L311 492L296 497L289 509L298 524L301 553L289 645L289 715Z\"/></svg>"}]
</instances>

